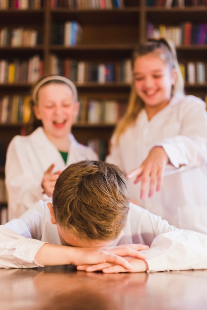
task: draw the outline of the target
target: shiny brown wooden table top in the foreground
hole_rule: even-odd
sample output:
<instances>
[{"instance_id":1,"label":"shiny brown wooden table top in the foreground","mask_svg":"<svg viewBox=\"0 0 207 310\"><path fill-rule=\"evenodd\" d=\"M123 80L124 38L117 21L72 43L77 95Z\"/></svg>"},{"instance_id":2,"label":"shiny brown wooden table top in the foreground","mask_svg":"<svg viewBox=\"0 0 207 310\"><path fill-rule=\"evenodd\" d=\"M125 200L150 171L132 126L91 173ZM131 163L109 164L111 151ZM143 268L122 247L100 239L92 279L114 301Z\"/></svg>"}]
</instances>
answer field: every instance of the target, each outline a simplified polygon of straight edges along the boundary
<instances>
[{"instance_id":1,"label":"shiny brown wooden table top in the foreground","mask_svg":"<svg viewBox=\"0 0 207 310\"><path fill-rule=\"evenodd\" d=\"M0 269L0 310L207 310L207 270Z\"/></svg>"}]
</instances>

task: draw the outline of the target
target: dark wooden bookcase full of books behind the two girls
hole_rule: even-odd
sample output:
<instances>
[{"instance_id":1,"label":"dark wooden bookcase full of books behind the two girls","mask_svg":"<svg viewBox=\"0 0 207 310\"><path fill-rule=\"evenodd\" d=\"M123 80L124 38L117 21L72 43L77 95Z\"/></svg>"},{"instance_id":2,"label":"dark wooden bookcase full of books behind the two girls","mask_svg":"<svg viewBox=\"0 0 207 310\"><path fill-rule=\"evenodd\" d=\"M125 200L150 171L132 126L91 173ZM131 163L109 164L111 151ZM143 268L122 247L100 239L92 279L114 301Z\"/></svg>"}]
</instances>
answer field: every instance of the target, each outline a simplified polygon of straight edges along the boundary
<instances>
[{"instance_id":1,"label":"dark wooden bookcase full of books behind the two girls","mask_svg":"<svg viewBox=\"0 0 207 310\"><path fill-rule=\"evenodd\" d=\"M207 0L0 0L0 222L6 221L5 154L24 134L30 91L60 74L78 90L78 142L104 159L130 94L131 55L147 37L177 49L187 94L207 102Z\"/></svg>"}]
</instances>

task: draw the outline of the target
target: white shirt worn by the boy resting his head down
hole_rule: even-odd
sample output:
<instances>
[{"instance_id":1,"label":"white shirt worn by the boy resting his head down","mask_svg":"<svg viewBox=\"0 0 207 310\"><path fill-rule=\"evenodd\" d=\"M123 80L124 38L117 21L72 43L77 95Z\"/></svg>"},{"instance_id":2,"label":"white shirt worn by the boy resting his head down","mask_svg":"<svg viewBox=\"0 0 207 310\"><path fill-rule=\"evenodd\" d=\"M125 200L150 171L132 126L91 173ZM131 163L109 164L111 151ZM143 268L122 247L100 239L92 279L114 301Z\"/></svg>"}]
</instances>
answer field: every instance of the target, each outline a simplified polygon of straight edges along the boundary
<instances>
[{"instance_id":1,"label":"white shirt worn by the boy resting his head down","mask_svg":"<svg viewBox=\"0 0 207 310\"><path fill-rule=\"evenodd\" d=\"M0 267L37 267L34 257L45 242L61 245L47 202L39 201L19 219L0 226ZM113 246L130 243L151 246L142 251L149 271L207 268L207 235L177 229L160 216L133 204L126 226Z\"/></svg>"}]
</instances>

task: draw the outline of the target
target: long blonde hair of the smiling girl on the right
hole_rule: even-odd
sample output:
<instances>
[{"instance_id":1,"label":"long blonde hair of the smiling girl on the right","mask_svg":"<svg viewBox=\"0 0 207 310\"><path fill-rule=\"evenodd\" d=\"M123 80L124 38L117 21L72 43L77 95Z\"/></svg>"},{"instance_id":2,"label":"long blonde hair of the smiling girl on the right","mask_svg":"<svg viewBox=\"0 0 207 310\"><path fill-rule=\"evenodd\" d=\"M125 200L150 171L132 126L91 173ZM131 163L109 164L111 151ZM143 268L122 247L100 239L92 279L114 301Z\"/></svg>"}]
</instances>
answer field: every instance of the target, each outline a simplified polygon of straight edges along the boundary
<instances>
[{"instance_id":1,"label":"long blonde hair of the smiling girl on the right","mask_svg":"<svg viewBox=\"0 0 207 310\"><path fill-rule=\"evenodd\" d=\"M167 64L169 64L170 69L176 69L177 78L175 84L172 86L171 94L184 94L184 80L180 70L180 66L177 59L177 53L175 46L172 41L158 38L158 39L148 39L145 43L138 46L138 49L133 52L132 56L132 66L134 67L135 60L148 53L156 52ZM125 115L119 121L117 127L115 128L114 135L116 137L116 143L119 143L121 135L127 130L127 128L133 124L138 117L139 112L144 107L144 103L138 97L135 84L133 82L131 87L131 94L129 98L128 107Z\"/></svg>"}]
</instances>

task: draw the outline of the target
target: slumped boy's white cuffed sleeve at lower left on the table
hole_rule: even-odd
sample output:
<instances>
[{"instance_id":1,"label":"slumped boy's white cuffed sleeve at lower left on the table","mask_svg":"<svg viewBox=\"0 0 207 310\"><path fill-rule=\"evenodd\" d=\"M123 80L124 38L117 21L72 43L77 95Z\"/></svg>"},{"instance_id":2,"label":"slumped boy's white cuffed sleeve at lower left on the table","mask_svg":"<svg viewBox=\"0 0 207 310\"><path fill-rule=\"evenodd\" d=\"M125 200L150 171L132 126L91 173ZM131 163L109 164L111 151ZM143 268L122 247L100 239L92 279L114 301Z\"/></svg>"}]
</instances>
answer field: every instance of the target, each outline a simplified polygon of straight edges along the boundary
<instances>
[{"instance_id":1,"label":"slumped boy's white cuffed sleeve at lower left on the table","mask_svg":"<svg viewBox=\"0 0 207 310\"><path fill-rule=\"evenodd\" d=\"M0 268L34 268L37 251L45 242L25 238L0 225Z\"/></svg>"}]
</instances>

